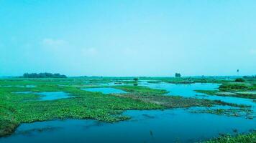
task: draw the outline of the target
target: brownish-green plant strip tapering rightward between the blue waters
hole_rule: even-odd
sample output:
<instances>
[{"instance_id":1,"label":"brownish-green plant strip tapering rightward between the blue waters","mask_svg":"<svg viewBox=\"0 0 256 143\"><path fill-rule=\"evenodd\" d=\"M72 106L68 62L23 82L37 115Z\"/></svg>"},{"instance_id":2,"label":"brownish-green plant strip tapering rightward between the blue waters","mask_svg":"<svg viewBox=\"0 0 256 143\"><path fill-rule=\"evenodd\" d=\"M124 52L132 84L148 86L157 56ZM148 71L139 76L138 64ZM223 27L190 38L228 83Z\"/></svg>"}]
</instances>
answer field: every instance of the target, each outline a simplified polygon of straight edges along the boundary
<instances>
[{"instance_id":1,"label":"brownish-green plant strip tapering rightward between the blue waters","mask_svg":"<svg viewBox=\"0 0 256 143\"><path fill-rule=\"evenodd\" d=\"M117 97L127 97L142 102L159 104L165 108L182 108L182 107L212 107L213 105L227 105L232 107L250 107L242 104L231 104L221 102L219 100L185 98L179 96L165 96L165 90L150 89L148 87L134 87L134 86L116 86L116 89L122 89L127 94L114 94Z\"/></svg>"}]
</instances>

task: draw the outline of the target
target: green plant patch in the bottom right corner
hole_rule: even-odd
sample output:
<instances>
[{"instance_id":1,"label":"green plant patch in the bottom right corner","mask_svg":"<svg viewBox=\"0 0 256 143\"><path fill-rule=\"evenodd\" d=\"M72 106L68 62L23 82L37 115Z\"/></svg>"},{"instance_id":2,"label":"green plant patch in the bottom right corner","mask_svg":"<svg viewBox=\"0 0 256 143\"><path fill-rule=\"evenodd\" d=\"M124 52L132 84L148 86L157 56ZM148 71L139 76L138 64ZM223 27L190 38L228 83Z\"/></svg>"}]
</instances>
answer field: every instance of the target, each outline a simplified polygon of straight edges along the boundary
<instances>
[{"instance_id":1,"label":"green plant patch in the bottom right corner","mask_svg":"<svg viewBox=\"0 0 256 143\"><path fill-rule=\"evenodd\" d=\"M256 142L256 132L250 134L238 134L232 137L229 134L222 135L216 139L211 139L205 143L255 143Z\"/></svg>"}]
</instances>

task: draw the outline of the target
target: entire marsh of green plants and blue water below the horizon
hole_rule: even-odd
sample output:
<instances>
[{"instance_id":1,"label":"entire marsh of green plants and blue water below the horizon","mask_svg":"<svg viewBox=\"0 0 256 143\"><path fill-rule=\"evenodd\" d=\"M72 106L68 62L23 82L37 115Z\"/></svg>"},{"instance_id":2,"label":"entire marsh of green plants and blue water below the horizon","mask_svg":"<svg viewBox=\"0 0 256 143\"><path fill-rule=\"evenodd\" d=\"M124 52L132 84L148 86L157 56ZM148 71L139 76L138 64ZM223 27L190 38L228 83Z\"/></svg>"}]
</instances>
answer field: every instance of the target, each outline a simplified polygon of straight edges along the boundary
<instances>
[{"instance_id":1,"label":"entire marsh of green plants and blue water below the horizon","mask_svg":"<svg viewBox=\"0 0 256 143\"><path fill-rule=\"evenodd\" d=\"M255 137L255 82L180 80L0 79L0 142L218 142Z\"/></svg>"}]
</instances>

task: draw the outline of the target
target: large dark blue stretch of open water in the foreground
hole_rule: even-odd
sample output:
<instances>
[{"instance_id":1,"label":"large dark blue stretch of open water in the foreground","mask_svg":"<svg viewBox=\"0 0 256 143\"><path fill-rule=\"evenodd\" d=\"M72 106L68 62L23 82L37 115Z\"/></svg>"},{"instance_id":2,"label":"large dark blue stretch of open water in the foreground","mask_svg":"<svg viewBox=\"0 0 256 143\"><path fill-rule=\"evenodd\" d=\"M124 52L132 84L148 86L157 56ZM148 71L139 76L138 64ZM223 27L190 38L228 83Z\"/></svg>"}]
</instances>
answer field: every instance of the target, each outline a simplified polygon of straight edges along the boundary
<instances>
[{"instance_id":1,"label":"large dark blue stretch of open water in the foreground","mask_svg":"<svg viewBox=\"0 0 256 143\"><path fill-rule=\"evenodd\" d=\"M0 142L198 142L221 133L256 128L255 120L215 114L193 114L184 109L127 111L129 121L114 124L94 120L55 120L22 124Z\"/></svg>"}]
</instances>

